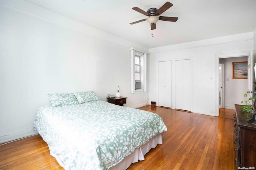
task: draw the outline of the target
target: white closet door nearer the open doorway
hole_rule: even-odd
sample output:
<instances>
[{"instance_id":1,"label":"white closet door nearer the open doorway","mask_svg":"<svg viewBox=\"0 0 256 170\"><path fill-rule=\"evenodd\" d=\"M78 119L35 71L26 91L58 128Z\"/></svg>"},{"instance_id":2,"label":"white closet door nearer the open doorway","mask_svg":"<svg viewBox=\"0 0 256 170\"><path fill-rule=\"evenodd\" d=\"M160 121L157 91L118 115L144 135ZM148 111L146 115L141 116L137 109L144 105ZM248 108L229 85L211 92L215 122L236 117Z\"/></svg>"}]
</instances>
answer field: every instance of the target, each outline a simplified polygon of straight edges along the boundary
<instances>
[{"instance_id":1,"label":"white closet door nearer the open doorway","mask_svg":"<svg viewBox=\"0 0 256 170\"><path fill-rule=\"evenodd\" d=\"M191 111L191 60L175 61L175 108Z\"/></svg>"}]
</instances>

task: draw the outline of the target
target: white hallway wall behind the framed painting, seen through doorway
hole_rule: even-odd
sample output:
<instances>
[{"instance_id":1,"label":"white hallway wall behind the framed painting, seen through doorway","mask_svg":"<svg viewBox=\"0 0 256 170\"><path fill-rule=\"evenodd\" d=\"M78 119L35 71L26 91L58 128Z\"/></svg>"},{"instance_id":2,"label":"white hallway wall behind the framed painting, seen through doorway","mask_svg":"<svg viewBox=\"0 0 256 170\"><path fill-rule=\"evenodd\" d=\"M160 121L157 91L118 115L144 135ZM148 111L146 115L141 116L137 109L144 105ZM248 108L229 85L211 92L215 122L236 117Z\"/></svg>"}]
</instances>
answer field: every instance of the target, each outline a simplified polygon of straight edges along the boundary
<instances>
[{"instance_id":1,"label":"white hallway wall behind the framed painting, seen through doorway","mask_svg":"<svg viewBox=\"0 0 256 170\"><path fill-rule=\"evenodd\" d=\"M247 79L232 79L232 62L247 61L247 57L231 57L224 59L224 108L235 109L234 104L245 101Z\"/></svg>"}]
</instances>

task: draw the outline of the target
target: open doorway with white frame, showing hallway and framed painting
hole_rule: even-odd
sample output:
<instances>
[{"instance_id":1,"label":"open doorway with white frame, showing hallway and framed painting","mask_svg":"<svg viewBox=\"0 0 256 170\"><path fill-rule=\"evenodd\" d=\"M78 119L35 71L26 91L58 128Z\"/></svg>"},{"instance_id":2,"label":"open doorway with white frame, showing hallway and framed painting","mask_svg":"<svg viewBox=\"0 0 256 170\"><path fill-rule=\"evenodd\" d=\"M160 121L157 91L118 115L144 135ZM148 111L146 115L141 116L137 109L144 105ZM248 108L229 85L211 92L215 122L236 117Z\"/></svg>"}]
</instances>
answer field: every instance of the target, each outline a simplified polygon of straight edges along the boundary
<instances>
[{"instance_id":1,"label":"open doorway with white frame, showing hallway and framed painting","mask_svg":"<svg viewBox=\"0 0 256 170\"><path fill-rule=\"evenodd\" d=\"M241 104L241 101L244 100L243 94L250 88L248 80L232 79L232 62L248 61L252 58L250 56L252 56L252 51L216 55L216 63L218 63L216 68L216 116L219 116L220 108L233 110L234 104ZM228 111L230 112L230 110Z\"/></svg>"}]
</instances>

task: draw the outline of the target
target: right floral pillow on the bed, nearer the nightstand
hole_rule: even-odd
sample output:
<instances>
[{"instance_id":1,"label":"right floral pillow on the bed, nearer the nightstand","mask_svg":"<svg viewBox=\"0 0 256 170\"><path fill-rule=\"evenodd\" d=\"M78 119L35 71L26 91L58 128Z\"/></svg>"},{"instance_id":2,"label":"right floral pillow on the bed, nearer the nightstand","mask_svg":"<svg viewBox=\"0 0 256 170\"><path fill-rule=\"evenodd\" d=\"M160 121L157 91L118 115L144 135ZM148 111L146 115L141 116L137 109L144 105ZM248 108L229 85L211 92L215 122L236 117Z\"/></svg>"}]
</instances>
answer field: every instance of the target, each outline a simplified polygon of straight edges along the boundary
<instances>
[{"instance_id":1,"label":"right floral pillow on the bed, nearer the nightstand","mask_svg":"<svg viewBox=\"0 0 256 170\"><path fill-rule=\"evenodd\" d=\"M95 94L93 91L77 92L77 93L74 93L74 95L76 96L79 104L100 100L97 94Z\"/></svg>"}]
</instances>

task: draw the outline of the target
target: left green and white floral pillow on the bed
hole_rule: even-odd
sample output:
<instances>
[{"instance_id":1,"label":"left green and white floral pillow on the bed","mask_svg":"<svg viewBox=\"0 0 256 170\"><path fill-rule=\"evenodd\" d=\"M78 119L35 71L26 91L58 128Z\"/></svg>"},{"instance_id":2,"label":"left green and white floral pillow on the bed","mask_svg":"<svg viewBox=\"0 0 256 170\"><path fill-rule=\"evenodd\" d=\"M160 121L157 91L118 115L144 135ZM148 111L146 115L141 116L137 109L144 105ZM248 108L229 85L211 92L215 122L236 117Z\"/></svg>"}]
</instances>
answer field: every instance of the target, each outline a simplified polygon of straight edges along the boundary
<instances>
[{"instance_id":1,"label":"left green and white floral pillow on the bed","mask_svg":"<svg viewBox=\"0 0 256 170\"><path fill-rule=\"evenodd\" d=\"M73 93L48 94L52 107L79 104Z\"/></svg>"}]
</instances>

